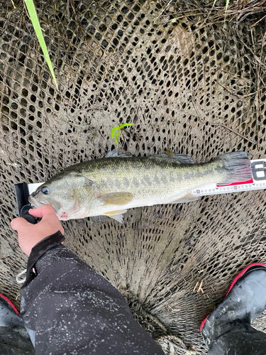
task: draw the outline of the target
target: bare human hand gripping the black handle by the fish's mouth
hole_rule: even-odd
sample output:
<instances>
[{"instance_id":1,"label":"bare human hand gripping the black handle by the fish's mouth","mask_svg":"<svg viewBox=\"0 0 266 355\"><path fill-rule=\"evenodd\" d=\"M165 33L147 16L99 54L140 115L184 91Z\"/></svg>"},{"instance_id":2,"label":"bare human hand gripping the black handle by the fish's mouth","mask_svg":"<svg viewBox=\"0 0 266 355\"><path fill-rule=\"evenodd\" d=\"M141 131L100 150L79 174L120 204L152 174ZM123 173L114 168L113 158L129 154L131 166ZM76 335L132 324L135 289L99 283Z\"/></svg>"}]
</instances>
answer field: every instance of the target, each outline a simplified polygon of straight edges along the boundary
<instances>
[{"instance_id":1,"label":"bare human hand gripping the black handle by the fish's mouth","mask_svg":"<svg viewBox=\"0 0 266 355\"><path fill-rule=\"evenodd\" d=\"M18 217L11 221L11 228L18 231L18 244L21 250L29 256L35 244L56 231L64 234L64 228L51 204L45 204L37 209L29 209L28 213L33 217L40 217L42 220L37 224L31 224L26 219Z\"/></svg>"}]
</instances>

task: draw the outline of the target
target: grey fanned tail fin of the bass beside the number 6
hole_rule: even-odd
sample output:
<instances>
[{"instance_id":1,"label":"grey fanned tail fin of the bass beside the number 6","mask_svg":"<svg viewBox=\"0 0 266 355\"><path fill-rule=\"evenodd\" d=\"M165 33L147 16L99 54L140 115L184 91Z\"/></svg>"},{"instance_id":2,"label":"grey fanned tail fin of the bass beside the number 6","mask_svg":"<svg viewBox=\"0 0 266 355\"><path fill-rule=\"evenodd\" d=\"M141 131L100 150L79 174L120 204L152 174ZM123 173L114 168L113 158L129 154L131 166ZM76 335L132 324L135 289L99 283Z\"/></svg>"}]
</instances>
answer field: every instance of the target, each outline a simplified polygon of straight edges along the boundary
<instances>
[{"instance_id":1,"label":"grey fanned tail fin of the bass beside the number 6","mask_svg":"<svg viewBox=\"0 0 266 355\"><path fill-rule=\"evenodd\" d=\"M248 181L252 178L250 160L245 152L223 154L214 160L222 160L227 173L226 181L220 182L218 185Z\"/></svg>"}]
</instances>

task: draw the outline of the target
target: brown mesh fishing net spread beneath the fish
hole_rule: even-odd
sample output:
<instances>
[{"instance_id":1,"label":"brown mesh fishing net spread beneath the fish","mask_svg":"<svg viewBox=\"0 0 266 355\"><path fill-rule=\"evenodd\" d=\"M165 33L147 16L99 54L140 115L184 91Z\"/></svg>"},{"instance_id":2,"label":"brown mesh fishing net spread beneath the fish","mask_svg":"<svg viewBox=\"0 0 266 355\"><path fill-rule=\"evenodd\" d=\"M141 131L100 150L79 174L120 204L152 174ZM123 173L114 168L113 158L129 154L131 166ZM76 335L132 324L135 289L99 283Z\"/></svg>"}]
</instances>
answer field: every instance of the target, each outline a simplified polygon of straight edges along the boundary
<instances>
[{"instance_id":1,"label":"brown mesh fishing net spread beneath the fish","mask_svg":"<svg viewBox=\"0 0 266 355\"><path fill-rule=\"evenodd\" d=\"M118 122L133 124L119 143L133 155L266 153L261 1L233 1L226 23L218 1L208 20L212 4L193 1L35 3L58 91L23 3L0 6L0 291L17 306L27 258L10 227L13 184L102 158ZM206 354L201 321L245 266L266 263L265 210L260 190L135 208L123 224L62 224L65 244L121 291L165 354Z\"/></svg>"}]
</instances>

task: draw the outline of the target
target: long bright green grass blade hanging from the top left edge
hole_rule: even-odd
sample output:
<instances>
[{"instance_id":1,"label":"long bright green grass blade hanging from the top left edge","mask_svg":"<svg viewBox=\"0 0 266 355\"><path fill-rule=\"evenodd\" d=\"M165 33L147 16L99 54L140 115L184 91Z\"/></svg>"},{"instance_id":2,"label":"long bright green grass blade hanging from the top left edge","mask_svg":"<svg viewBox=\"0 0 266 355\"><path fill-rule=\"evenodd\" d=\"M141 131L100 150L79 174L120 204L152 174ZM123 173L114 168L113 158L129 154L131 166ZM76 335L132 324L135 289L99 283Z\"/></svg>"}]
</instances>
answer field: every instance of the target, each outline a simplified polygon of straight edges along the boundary
<instances>
[{"instance_id":1,"label":"long bright green grass blade hanging from the top left edge","mask_svg":"<svg viewBox=\"0 0 266 355\"><path fill-rule=\"evenodd\" d=\"M39 23L38 16L37 16L37 13L36 13L36 10L35 10L35 6L33 4L33 0L24 0L24 1L25 1L26 6L27 6L27 9L28 9L28 14L29 14L29 16L31 18L31 22L33 23L33 28L35 30L35 33L36 33L37 38L38 38L38 41L40 43L40 47L43 50L43 54L45 56L45 60L46 60L46 62L48 64L48 67L49 67L50 72L52 74L52 78L55 81L55 85L56 85L56 87L58 89L57 81L55 79L55 73L54 73L54 70L52 69L52 63L51 63L51 60L50 60L50 57L49 57L49 53L48 53L47 47L45 45L45 40L43 38L43 33L42 33L41 28L40 28L40 23Z\"/></svg>"}]
</instances>

